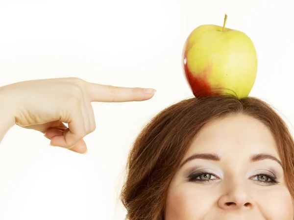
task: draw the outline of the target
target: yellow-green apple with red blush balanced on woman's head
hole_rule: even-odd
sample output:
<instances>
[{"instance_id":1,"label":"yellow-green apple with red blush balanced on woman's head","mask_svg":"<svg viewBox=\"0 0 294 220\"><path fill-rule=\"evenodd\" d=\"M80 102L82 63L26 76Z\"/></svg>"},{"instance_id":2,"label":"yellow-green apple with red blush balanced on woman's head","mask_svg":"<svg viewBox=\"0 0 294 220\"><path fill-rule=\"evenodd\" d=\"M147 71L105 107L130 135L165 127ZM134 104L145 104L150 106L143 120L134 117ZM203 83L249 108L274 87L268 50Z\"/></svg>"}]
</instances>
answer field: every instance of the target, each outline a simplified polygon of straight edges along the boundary
<instances>
[{"instance_id":1,"label":"yellow-green apple with red blush balanced on woman's head","mask_svg":"<svg viewBox=\"0 0 294 220\"><path fill-rule=\"evenodd\" d=\"M257 54L242 31L204 24L188 36L183 69L195 97L234 95L247 97L257 74Z\"/></svg>"}]
</instances>

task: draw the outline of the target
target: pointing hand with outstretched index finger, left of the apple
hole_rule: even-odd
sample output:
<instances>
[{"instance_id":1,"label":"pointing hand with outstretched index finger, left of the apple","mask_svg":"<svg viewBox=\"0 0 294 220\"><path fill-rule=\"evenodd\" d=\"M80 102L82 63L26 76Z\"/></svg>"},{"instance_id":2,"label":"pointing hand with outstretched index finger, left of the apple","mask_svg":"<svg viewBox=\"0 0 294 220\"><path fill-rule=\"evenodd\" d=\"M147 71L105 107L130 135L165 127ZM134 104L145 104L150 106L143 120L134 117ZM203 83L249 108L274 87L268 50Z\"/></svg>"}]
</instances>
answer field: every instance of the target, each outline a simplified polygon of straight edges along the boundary
<instances>
[{"instance_id":1,"label":"pointing hand with outstretched index finger, left of the apple","mask_svg":"<svg viewBox=\"0 0 294 220\"><path fill-rule=\"evenodd\" d=\"M143 101L152 98L154 92L95 84L79 78L23 81L0 88L6 105L16 110L16 124L42 132L50 139L51 146L78 153L87 152L82 138L96 128L91 102Z\"/></svg>"}]
</instances>

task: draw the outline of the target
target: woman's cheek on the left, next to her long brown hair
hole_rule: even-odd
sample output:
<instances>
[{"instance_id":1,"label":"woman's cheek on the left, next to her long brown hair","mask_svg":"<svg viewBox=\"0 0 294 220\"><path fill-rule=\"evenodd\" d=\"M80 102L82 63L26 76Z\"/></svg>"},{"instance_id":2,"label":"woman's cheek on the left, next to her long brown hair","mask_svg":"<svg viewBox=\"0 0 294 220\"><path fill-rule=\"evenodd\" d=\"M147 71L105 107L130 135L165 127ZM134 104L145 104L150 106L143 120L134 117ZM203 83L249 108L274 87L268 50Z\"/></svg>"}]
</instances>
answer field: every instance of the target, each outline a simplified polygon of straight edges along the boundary
<instances>
[{"instance_id":1,"label":"woman's cheek on the left, next to her long brown hair","mask_svg":"<svg viewBox=\"0 0 294 220\"><path fill-rule=\"evenodd\" d=\"M213 198L207 191L193 184L170 186L165 209L165 220L200 220L211 210Z\"/></svg>"}]
</instances>

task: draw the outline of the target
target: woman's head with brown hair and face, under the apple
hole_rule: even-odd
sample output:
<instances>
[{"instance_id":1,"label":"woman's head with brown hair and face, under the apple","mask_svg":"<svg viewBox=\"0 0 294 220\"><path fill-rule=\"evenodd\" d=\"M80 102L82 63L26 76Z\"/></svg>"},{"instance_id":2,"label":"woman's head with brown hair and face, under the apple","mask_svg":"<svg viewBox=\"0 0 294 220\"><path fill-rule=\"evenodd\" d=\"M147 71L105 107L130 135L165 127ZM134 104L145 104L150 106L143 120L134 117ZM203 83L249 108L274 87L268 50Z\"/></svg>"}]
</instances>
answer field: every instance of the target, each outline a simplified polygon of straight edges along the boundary
<instances>
[{"instance_id":1,"label":"woman's head with brown hair and face, under the apple","mask_svg":"<svg viewBox=\"0 0 294 220\"><path fill-rule=\"evenodd\" d=\"M209 180L209 181L208 181ZM153 118L127 163L129 220L293 220L294 142L257 98L190 98Z\"/></svg>"}]
</instances>

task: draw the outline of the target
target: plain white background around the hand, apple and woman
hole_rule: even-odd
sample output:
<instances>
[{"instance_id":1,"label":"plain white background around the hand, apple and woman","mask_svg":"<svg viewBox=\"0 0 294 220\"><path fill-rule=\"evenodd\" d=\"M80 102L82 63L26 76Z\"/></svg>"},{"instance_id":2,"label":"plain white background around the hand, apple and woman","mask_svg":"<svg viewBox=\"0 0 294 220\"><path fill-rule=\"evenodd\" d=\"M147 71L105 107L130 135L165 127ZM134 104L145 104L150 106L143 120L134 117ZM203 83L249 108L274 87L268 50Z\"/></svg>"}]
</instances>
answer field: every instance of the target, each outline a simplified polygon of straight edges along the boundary
<instances>
[{"instance_id":1,"label":"plain white background around the hand, apple and woman","mask_svg":"<svg viewBox=\"0 0 294 220\"><path fill-rule=\"evenodd\" d=\"M201 24L245 32L258 52L250 93L294 122L291 0L0 0L0 86L75 76L151 87L144 102L93 103L88 154L49 147L14 126L0 145L0 220L123 220L118 200L127 153L159 111L193 97L183 44ZM5 107L5 103L1 103ZM292 126L292 125L291 125ZM291 128L292 129L292 128Z\"/></svg>"}]
</instances>

